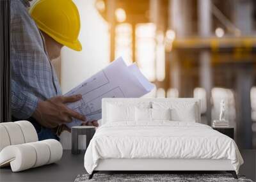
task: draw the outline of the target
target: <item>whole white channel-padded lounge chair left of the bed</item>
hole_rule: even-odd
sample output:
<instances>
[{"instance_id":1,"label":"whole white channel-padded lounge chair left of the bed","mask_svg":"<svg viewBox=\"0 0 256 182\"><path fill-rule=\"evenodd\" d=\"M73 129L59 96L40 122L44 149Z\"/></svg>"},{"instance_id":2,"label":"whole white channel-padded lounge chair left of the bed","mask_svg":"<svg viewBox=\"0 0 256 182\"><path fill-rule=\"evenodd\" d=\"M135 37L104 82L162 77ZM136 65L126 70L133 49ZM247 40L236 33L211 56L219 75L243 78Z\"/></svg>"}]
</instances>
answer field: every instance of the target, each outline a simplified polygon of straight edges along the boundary
<instances>
[{"instance_id":1,"label":"whole white channel-padded lounge chair left of the bed","mask_svg":"<svg viewBox=\"0 0 256 182\"><path fill-rule=\"evenodd\" d=\"M61 159L58 140L38 141L29 121L0 123L0 167L10 165L13 172L54 163Z\"/></svg>"}]
</instances>

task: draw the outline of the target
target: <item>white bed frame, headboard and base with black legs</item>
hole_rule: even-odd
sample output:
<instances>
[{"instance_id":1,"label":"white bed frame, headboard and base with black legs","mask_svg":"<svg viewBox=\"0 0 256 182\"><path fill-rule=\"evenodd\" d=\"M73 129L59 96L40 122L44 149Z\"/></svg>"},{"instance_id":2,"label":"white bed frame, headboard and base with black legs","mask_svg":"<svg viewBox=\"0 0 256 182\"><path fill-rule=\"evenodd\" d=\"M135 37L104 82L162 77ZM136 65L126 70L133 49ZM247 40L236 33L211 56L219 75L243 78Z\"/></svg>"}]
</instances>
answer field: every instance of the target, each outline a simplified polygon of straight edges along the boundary
<instances>
[{"instance_id":1,"label":"white bed frame, headboard and base with black legs","mask_svg":"<svg viewBox=\"0 0 256 182\"><path fill-rule=\"evenodd\" d=\"M195 102L198 105L198 110L200 111L201 101L199 98L104 98L102 100L102 123L104 123L104 118L106 118L106 106L107 103L111 102L123 102L129 100L129 102L152 102L152 101L182 101L182 102ZM126 102L126 101L125 101ZM200 113L198 113L198 121L200 123ZM237 179L236 171L231 164L230 160L213 160L213 159L163 159L163 158L108 158L100 159L97 167L95 167L92 174L90 174L89 179L93 178L93 174L96 172L149 172L149 173L170 173L170 172L198 172L205 173L215 172L215 171L226 171L231 173L232 176Z\"/></svg>"}]
</instances>

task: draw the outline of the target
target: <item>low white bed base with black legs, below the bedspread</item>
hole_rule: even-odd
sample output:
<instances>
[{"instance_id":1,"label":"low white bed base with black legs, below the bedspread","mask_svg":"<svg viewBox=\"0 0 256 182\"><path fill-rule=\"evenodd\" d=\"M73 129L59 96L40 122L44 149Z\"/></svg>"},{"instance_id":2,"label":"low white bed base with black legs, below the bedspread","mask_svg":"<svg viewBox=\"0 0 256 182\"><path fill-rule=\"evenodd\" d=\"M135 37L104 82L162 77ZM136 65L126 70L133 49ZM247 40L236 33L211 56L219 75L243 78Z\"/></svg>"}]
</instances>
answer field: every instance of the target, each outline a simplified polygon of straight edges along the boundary
<instances>
[{"instance_id":1,"label":"low white bed base with black legs, below the bedspread","mask_svg":"<svg viewBox=\"0 0 256 182\"><path fill-rule=\"evenodd\" d=\"M89 179L97 172L115 171L115 172L146 172L146 173L170 173L170 172L198 172L204 173L215 171L226 171L231 173L237 179L236 171L230 160L211 160L211 159L126 159L109 158L99 160L95 170L90 174Z\"/></svg>"}]
</instances>

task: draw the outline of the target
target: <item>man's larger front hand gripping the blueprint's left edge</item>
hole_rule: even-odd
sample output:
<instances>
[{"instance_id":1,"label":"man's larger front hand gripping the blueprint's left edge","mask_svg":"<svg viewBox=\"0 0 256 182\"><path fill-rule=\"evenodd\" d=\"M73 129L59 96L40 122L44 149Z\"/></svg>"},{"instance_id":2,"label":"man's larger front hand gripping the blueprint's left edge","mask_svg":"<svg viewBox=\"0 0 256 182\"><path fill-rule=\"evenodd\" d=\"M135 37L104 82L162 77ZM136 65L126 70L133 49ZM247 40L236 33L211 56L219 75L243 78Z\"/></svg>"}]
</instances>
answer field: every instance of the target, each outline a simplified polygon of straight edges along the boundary
<instances>
[{"instance_id":1,"label":"man's larger front hand gripping the blueprint's left edge","mask_svg":"<svg viewBox=\"0 0 256 182\"><path fill-rule=\"evenodd\" d=\"M77 102L81 95L56 96L49 100L38 102L33 118L46 128L54 128L60 124L70 123L72 118L85 121L85 117L78 112L71 110L65 105L69 102Z\"/></svg>"}]
</instances>

